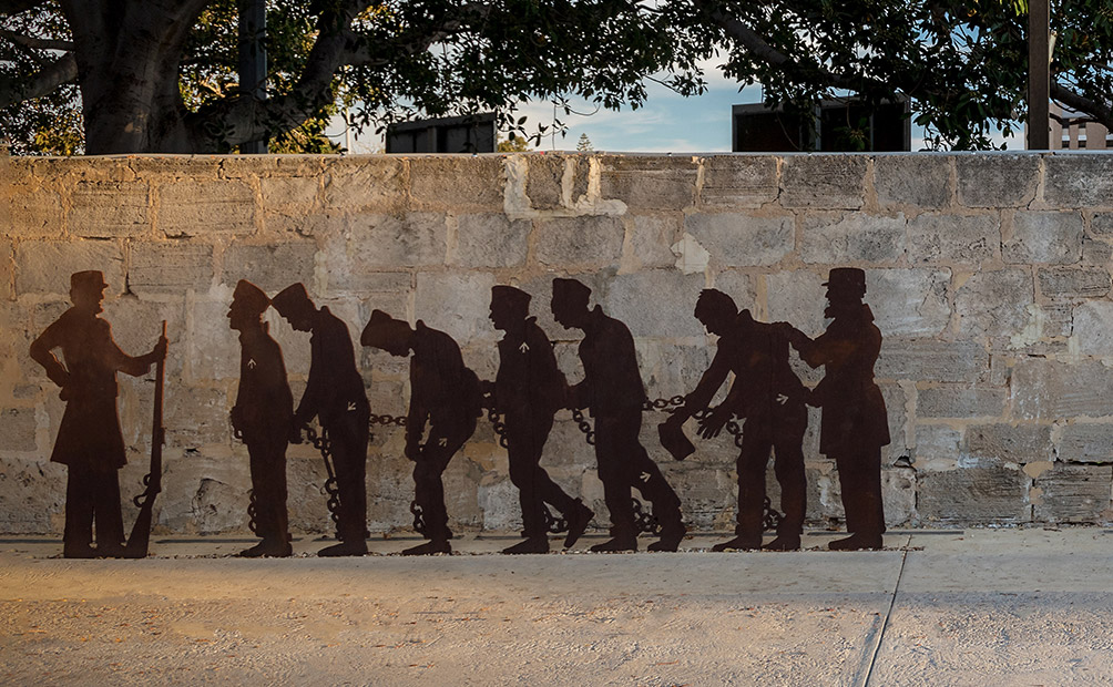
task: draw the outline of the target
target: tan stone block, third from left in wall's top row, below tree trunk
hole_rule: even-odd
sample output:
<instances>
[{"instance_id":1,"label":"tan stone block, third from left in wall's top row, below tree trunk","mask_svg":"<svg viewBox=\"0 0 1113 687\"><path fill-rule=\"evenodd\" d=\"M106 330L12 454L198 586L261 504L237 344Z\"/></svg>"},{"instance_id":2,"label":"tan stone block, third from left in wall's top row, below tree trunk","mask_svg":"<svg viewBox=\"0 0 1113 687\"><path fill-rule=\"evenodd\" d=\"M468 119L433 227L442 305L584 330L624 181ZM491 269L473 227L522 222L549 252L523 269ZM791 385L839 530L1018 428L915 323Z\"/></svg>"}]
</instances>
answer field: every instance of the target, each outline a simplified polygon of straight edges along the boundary
<instances>
[{"instance_id":1,"label":"tan stone block, third from left in wall's top row, below tree trunk","mask_svg":"<svg viewBox=\"0 0 1113 687\"><path fill-rule=\"evenodd\" d=\"M157 226L169 237L253 233L255 191L243 181L180 179L158 189Z\"/></svg>"}]
</instances>

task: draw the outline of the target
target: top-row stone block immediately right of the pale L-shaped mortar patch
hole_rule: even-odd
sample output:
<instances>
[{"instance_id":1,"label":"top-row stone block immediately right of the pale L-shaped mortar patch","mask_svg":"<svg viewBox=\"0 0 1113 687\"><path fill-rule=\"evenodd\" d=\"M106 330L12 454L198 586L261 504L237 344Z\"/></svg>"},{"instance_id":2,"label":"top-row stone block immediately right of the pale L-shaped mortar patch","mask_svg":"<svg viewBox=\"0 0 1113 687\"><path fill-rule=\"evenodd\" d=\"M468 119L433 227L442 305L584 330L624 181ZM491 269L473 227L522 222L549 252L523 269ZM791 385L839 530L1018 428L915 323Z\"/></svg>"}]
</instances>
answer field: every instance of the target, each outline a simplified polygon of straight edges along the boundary
<instances>
[{"instance_id":1,"label":"top-row stone block immediately right of the pale L-shaped mortar patch","mask_svg":"<svg viewBox=\"0 0 1113 687\"><path fill-rule=\"evenodd\" d=\"M634 211L682 210L695 202L698 171L689 157L603 156L600 196Z\"/></svg>"}]
</instances>

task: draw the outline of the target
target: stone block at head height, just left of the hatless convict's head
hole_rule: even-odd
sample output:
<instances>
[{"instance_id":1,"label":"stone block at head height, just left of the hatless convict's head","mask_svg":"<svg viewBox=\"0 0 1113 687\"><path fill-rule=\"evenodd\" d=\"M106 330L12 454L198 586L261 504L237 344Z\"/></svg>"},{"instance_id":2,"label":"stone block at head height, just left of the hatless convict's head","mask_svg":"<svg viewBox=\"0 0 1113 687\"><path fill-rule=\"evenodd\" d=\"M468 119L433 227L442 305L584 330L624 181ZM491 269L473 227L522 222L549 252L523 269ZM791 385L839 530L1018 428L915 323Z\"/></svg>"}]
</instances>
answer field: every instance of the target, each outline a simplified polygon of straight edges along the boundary
<instances>
[{"instance_id":1,"label":"stone block at head height, just left of the hatless convict's head","mask_svg":"<svg viewBox=\"0 0 1113 687\"><path fill-rule=\"evenodd\" d=\"M703 326L692 312L703 283L702 275L676 270L619 275L611 282L603 309L626 322L634 337L701 337Z\"/></svg>"}]
</instances>

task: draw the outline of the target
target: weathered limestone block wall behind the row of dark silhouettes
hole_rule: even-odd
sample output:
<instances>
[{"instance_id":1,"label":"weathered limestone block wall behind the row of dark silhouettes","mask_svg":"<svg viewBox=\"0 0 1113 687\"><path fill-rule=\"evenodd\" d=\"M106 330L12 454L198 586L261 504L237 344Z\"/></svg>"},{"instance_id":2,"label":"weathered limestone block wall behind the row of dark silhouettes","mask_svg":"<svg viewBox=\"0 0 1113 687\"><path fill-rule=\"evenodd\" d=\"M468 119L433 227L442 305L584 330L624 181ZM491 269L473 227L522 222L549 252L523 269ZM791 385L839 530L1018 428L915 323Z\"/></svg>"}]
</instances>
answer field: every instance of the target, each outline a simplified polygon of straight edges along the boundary
<instances>
[{"instance_id":1,"label":"weathered limestone block wall behind the row of dark silhouettes","mask_svg":"<svg viewBox=\"0 0 1113 687\"><path fill-rule=\"evenodd\" d=\"M105 317L125 350L148 350L168 321L159 531L246 528L247 452L228 422L239 348L226 312L238 279L272 295L303 281L354 336L374 308L422 319L489 379L500 333L490 288L515 285L534 295L575 381L578 332L548 309L552 278L575 276L629 325L658 398L689 391L713 355L692 316L700 289L818 335L821 282L839 266L866 270L885 337L876 371L893 436L890 525L1113 519L1109 155L4 158L0 180L3 532L61 528L65 471L48 458L63 404L28 347L68 307L69 275L82 269L105 272ZM268 320L297 397L308 337ZM358 355L373 411L403 415L406 362ZM820 378L797 368L809 385ZM147 468L152 389L150 377L121 376L126 498ZM677 462L657 442L663 417L646 414L643 439L686 519L729 528L731 438L698 441ZM841 506L818 424L812 411L808 517L824 525ZM412 522L402 447L401 430L375 429L374 531ZM565 411L543 465L605 522L594 457ZM331 529L324 478L312 447L290 448L294 527ZM454 527L520 527L485 420L445 479Z\"/></svg>"}]
</instances>

